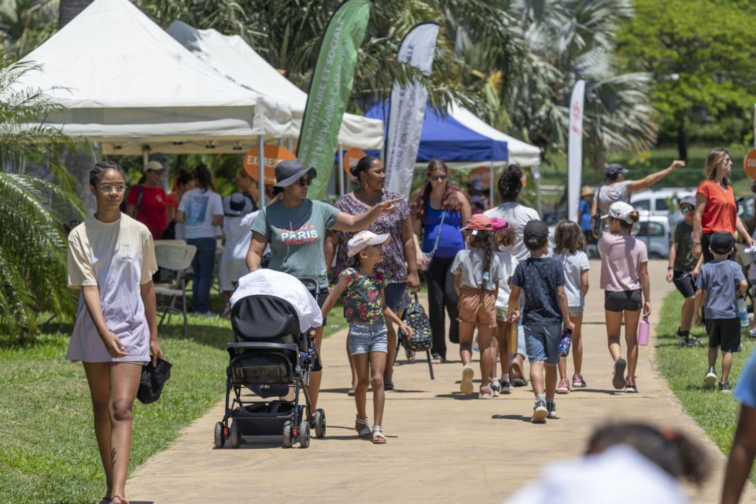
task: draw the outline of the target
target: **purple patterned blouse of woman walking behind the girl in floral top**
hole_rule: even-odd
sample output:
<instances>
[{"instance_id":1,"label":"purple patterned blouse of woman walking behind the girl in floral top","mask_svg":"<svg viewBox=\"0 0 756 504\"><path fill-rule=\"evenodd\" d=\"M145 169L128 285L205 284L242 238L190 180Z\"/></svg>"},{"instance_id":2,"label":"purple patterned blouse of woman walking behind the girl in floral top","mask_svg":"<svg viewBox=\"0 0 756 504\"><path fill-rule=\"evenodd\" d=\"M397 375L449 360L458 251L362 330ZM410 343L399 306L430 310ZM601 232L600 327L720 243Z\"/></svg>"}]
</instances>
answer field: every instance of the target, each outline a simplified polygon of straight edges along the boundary
<instances>
[{"instance_id":1,"label":"purple patterned blouse of woman walking behind the girl in floral top","mask_svg":"<svg viewBox=\"0 0 756 504\"><path fill-rule=\"evenodd\" d=\"M383 191L381 201L386 199L398 199L401 194L389 193ZM352 193L341 196L336 204L337 209L349 215L360 215L369 210L367 206L360 203ZM377 264L376 268L384 271L388 279L387 283L404 283L407 281L407 266L404 264L404 243L401 240L401 226L410 216L410 209L407 203L401 201L396 203L394 211L389 214L382 214L367 230L376 234L389 233L391 241L383 246L383 261ZM338 231L339 249L336 251L336 274L341 273L346 267L352 266L354 261L346 255L349 240L355 236L355 233L347 231Z\"/></svg>"}]
</instances>

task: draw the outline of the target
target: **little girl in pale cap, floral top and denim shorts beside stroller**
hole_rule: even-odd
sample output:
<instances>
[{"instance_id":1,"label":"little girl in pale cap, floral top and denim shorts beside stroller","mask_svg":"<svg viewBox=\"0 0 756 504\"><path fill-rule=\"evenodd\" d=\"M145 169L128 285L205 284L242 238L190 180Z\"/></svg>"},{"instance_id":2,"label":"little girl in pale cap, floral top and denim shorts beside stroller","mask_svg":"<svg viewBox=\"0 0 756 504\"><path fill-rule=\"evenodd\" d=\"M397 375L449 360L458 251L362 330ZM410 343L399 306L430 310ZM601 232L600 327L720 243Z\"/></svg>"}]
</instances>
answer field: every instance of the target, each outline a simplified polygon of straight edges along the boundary
<instances>
[{"instance_id":1,"label":"little girl in pale cap, floral top and denim shorts beside stroller","mask_svg":"<svg viewBox=\"0 0 756 504\"><path fill-rule=\"evenodd\" d=\"M347 267L339 274L339 282L321 308L323 317L326 317L336 300L346 291L344 311L346 320L349 321L349 352L357 368L355 430L361 438L372 438L375 444L386 443L382 427L383 407L386 402L383 369L386 367L388 351L384 317L397 324L401 331L412 335L412 330L386 305L383 292L386 276L376 270L376 264L383 261L383 246L390 239L389 234L360 231L349 240L348 254L350 258L355 258L355 266ZM372 429L367 423L368 385L373 386Z\"/></svg>"}]
</instances>

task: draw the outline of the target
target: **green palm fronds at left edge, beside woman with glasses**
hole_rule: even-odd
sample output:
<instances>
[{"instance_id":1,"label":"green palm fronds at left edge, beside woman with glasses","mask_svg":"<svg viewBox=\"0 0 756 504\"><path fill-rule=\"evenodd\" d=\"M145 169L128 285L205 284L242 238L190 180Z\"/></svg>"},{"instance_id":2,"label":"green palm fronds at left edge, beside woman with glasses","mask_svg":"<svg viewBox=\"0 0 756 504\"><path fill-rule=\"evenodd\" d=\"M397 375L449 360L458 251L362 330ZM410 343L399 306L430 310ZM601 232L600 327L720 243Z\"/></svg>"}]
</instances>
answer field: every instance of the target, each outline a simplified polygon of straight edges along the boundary
<instances>
[{"instance_id":1,"label":"green palm fronds at left edge, beside woman with glasses","mask_svg":"<svg viewBox=\"0 0 756 504\"><path fill-rule=\"evenodd\" d=\"M39 331L39 311L73 313L64 222L83 215L59 156L76 144L40 123L57 107L40 91L11 91L32 68L0 59L0 335L22 340Z\"/></svg>"}]
</instances>

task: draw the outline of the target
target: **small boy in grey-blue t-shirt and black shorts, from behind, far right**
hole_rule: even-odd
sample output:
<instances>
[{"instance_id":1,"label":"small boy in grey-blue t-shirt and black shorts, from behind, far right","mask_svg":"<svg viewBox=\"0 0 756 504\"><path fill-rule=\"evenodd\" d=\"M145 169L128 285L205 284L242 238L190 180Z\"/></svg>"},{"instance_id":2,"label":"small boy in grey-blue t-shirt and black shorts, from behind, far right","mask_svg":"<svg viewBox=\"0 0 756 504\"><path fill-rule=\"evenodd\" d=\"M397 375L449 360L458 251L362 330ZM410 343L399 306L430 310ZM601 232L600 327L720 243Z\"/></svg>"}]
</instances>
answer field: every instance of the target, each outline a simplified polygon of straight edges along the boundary
<instances>
[{"instance_id":1,"label":"small boy in grey-blue t-shirt and black shorts, from behind, far right","mask_svg":"<svg viewBox=\"0 0 756 504\"><path fill-rule=\"evenodd\" d=\"M706 298L704 314L706 316L706 332L708 333L708 371L704 379L704 388L714 388L717 381L717 349L722 351L722 379L719 389L730 392L730 369L733 366L733 352L740 351L740 317L738 314L737 296L745 296L748 281L743 276L742 269L735 261L729 261L734 246L733 235L717 232L711 235L709 248L714 255L714 261L701 267L696 282L696 325L701 325L699 308L702 299ZM737 287L736 287L737 286Z\"/></svg>"}]
</instances>

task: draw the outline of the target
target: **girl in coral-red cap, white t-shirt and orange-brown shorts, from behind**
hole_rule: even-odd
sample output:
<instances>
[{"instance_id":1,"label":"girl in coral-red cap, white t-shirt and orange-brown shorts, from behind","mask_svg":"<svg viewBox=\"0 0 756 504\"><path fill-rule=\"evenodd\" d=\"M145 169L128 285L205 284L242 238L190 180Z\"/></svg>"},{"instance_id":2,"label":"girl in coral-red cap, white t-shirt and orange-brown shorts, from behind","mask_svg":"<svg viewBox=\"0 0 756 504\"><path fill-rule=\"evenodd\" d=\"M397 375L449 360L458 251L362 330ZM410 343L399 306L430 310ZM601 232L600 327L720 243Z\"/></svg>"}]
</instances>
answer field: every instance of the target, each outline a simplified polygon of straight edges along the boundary
<instances>
[{"instance_id":1,"label":"girl in coral-red cap, white t-shirt and orange-brown shorts, from behind","mask_svg":"<svg viewBox=\"0 0 756 504\"><path fill-rule=\"evenodd\" d=\"M480 348L480 373L482 382L479 398L494 397L491 378L491 361L497 353L496 298L499 282L507 282L503 267L494 254L494 226L483 214L472 215L462 228L467 233L468 249L457 252L451 271L454 274L454 290L460 296L460 358L462 359L462 382L460 391L472 394L472 334L478 327ZM487 382L488 380L488 382ZM498 385L498 383L496 384Z\"/></svg>"}]
</instances>

